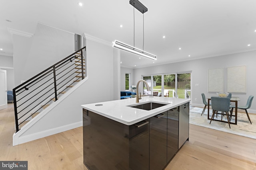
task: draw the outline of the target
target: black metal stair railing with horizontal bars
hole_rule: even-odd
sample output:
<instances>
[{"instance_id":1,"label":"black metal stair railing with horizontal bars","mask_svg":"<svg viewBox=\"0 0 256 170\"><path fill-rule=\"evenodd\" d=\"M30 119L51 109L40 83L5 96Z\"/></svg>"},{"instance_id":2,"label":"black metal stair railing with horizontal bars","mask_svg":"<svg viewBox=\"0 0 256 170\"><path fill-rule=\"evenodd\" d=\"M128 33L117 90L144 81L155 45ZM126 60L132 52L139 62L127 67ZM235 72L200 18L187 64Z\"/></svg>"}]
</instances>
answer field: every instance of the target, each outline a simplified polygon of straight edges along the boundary
<instances>
[{"instance_id":1,"label":"black metal stair railing with horizontal bars","mask_svg":"<svg viewBox=\"0 0 256 170\"><path fill-rule=\"evenodd\" d=\"M13 89L16 132L32 115L57 101L63 92L84 79L85 49L83 47Z\"/></svg>"}]
</instances>

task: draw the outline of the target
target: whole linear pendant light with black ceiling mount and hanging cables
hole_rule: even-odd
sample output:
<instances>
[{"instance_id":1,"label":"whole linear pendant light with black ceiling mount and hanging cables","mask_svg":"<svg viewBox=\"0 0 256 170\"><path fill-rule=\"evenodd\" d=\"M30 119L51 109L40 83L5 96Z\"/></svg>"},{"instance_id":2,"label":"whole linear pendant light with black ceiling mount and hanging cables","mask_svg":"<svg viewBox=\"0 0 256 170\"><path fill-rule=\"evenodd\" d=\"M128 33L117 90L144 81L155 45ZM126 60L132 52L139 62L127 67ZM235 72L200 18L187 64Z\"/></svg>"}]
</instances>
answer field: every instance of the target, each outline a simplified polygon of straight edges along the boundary
<instances>
[{"instance_id":1,"label":"whole linear pendant light with black ceiling mount and hanging cables","mask_svg":"<svg viewBox=\"0 0 256 170\"><path fill-rule=\"evenodd\" d=\"M130 0L130 4L143 14L143 50L132 47L130 45L127 45L127 44L122 43L122 42L117 41L117 40L115 40L115 42L113 42L113 47L124 50L124 51L128 51L130 53L134 53L136 55L140 55L142 57L146 57L148 59L156 60L156 55L152 55L152 54L144 51L144 13L148 11L148 8L146 8L138 0Z\"/></svg>"}]
</instances>

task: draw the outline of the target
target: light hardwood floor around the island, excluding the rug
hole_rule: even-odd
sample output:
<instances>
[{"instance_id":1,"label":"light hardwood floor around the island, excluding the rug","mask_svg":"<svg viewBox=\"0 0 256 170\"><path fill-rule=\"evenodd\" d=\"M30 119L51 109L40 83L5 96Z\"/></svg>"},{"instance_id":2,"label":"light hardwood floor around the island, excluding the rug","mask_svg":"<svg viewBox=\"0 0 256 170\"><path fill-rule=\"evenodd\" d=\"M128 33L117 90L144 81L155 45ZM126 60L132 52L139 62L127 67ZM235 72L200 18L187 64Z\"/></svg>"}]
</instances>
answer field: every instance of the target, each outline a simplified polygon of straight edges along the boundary
<instances>
[{"instance_id":1,"label":"light hardwood floor around the island, excluding the rug","mask_svg":"<svg viewBox=\"0 0 256 170\"><path fill-rule=\"evenodd\" d=\"M15 147L14 132L13 104L8 104L0 110L0 160L27 160L29 170L87 170L82 127ZM166 170L256 170L255 139L195 125L189 133Z\"/></svg>"}]
</instances>

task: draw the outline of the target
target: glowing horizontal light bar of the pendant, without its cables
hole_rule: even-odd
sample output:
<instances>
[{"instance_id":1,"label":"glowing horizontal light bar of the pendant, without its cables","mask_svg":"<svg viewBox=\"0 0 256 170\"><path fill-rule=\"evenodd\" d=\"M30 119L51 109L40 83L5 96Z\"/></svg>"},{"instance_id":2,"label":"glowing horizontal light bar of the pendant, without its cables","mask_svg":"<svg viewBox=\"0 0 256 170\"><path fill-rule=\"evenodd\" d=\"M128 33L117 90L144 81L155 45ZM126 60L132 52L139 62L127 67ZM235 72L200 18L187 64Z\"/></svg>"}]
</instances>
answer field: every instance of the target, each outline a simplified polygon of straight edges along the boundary
<instances>
[{"instance_id":1,"label":"glowing horizontal light bar of the pendant, without its cables","mask_svg":"<svg viewBox=\"0 0 256 170\"><path fill-rule=\"evenodd\" d=\"M155 55L152 55L150 53L147 53L146 51L142 51L140 49L137 49L137 48L127 45L125 43L121 43L120 41L117 41L117 40L115 40L115 42L113 42L113 47L130 52L130 53L134 53L136 55L140 55L142 57L146 57L151 60L156 60Z\"/></svg>"}]
</instances>

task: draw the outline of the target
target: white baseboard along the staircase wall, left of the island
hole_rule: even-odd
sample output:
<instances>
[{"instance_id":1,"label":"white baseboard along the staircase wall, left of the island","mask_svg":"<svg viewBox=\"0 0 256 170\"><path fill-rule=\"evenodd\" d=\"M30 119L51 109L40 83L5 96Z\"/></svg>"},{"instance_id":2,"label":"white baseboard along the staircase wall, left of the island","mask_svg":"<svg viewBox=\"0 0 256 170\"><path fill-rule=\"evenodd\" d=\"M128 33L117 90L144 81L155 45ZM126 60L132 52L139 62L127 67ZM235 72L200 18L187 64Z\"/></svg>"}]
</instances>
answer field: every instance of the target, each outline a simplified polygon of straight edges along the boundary
<instances>
[{"instance_id":1,"label":"white baseboard along the staircase wall, left of the island","mask_svg":"<svg viewBox=\"0 0 256 170\"><path fill-rule=\"evenodd\" d=\"M36 139L40 139L40 138L43 138L43 137L47 137L47 136L50 136L50 135L54 135L56 133L68 131L70 129L81 127L82 125L83 125L83 122L80 121L80 122L72 123L70 125L65 125L65 126L62 126L62 127L49 129L47 131L42 131L42 132L39 132L39 133L34 133L34 134L30 134L30 135L23 136L23 137L20 137L20 135L22 135L22 134L19 134L17 132L17 133L13 134L13 146L19 145L19 144L22 144L22 143L26 143L26 142L29 142L29 141L33 141L33 140L36 140Z\"/></svg>"}]
</instances>

